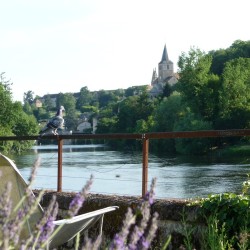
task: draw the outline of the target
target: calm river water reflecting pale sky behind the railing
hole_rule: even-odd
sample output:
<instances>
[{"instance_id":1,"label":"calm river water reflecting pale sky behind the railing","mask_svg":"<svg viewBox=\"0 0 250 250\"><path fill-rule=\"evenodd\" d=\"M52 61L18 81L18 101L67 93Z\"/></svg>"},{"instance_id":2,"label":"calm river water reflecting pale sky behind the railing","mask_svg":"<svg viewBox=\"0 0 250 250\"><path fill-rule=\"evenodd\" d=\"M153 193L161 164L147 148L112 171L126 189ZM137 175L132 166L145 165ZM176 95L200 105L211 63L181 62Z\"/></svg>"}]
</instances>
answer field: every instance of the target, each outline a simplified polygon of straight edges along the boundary
<instances>
[{"instance_id":1,"label":"calm river water reflecting pale sky behind the railing","mask_svg":"<svg viewBox=\"0 0 250 250\"><path fill-rule=\"evenodd\" d=\"M24 179L40 157L33 188L57 188L57 145L34 146L12 155ZM159 157L149 154L149 184L157 178L157 198L205 197L211 193L241 191L250 173L249 157ZM104 145L63 146L63 191L79 191L94 175L92 193L141 195L142 153L119 152Z\"/></svg>"}]
</instances>

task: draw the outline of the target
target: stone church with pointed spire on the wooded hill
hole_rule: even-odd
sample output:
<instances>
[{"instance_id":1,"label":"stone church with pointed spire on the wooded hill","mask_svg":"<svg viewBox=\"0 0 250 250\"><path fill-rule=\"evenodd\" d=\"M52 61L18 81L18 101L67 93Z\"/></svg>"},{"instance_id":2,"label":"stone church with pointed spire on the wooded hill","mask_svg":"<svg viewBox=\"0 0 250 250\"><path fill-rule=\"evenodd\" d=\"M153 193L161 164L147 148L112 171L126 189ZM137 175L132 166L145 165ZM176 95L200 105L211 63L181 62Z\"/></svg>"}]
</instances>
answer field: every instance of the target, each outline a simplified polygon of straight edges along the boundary
<instances>
[{"instance_id":1,"label":"stone church with pointed spire on the wooded hill","mask_svg":"<svg viewBox=\"0 0 250 250\"><path fill-rule=\"evenodd\" d=\"M164 46L161 61L158 64L158 75L156 69L153 70L149 95L156 97L163 93L164 86L168 83L174 85L178 77L174 73L174 63L169 60L166 45Z\"/></svg>"}]
</instances>

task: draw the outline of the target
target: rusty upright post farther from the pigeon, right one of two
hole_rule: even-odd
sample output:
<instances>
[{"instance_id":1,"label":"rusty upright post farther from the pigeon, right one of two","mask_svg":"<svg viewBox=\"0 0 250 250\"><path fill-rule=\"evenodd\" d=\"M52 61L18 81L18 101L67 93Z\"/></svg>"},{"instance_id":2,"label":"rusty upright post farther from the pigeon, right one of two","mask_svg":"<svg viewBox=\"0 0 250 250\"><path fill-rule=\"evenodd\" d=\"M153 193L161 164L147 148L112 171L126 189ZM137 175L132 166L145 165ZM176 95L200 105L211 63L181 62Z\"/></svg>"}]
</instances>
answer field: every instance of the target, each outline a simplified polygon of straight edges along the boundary
<instances>
[{"instance_id":1,"label":"rusty upright post farther from the pigeon, right one of two","mask_svg":"<svg viewBox=\"0 0 250 250\"><path fill-rule=\"evenodd\" d=\"M147 193L148 189L148 149L149 139L142 135L142 197Z\"/></svg>"}]
</instances>

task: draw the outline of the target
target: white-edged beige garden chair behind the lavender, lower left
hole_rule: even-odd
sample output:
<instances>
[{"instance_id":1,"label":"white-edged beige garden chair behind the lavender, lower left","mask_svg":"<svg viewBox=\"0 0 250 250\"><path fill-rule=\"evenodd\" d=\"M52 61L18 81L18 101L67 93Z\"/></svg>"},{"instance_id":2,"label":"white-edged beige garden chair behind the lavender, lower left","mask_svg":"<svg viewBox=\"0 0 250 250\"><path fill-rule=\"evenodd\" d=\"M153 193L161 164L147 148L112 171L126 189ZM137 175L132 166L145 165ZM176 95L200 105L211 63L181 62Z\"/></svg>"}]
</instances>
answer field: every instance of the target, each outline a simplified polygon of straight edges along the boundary
<instances>
[{"instance_id":1,"label":"white-edged beige garden chair behind the lavender, lower left","mask_svg":"<svg viewBox=\"0 0 250 250\"><path fill-rule=\"evenodd\" d=\"M25 190L27 188L27 183L21 176L15 163L8 157L0 153L0 171L2 172L2 177L0 177L0 193L4 190L4 187L8 182L12 183L11 189L11 199L13 206L18 204L18 202L23 197ZM99 233L102 234L103 218L108 212L118 209L117 206L110 206L102 209L98 209L89 213L77 215L71 219L56 220L53 223L56 225L55 228L61 227L57 234L49 242L48 248L55 248L62 245L71 239L73 239L79 232L86 232L90 227L96 224L97 221L100 222ZM24 226L21 237L25 237L32 233L32 228L43 216L43 209L38 205L36 211L32 214L30 219ZM15 214L12 214L15 216ZM1 236L1 232L0 232Z\"/></svg>"}]
</instances>

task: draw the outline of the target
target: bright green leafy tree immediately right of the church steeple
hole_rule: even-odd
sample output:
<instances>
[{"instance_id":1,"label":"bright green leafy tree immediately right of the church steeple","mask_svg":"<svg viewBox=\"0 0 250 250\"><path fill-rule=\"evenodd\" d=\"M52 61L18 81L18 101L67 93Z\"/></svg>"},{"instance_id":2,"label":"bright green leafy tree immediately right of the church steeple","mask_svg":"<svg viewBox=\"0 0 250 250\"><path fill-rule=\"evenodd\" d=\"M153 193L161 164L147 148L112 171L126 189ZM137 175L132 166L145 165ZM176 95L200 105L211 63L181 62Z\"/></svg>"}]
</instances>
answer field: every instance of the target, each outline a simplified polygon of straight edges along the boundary
<instances>
[{"instance_id":1,"label":"bright green leafy tree immediately right of the church steeple","mask_svg":"<svg viewBox=\"0 0 250 250\"><path fill-rule=\"evenodd\" d=\"M199 49L183 53L178 61L180 79L177 89L185 105L193 113L207 121L215 121L218 114L219 90L221 81L217 75L210 73L211 55Z\"/></svg>"}]
</instances>

